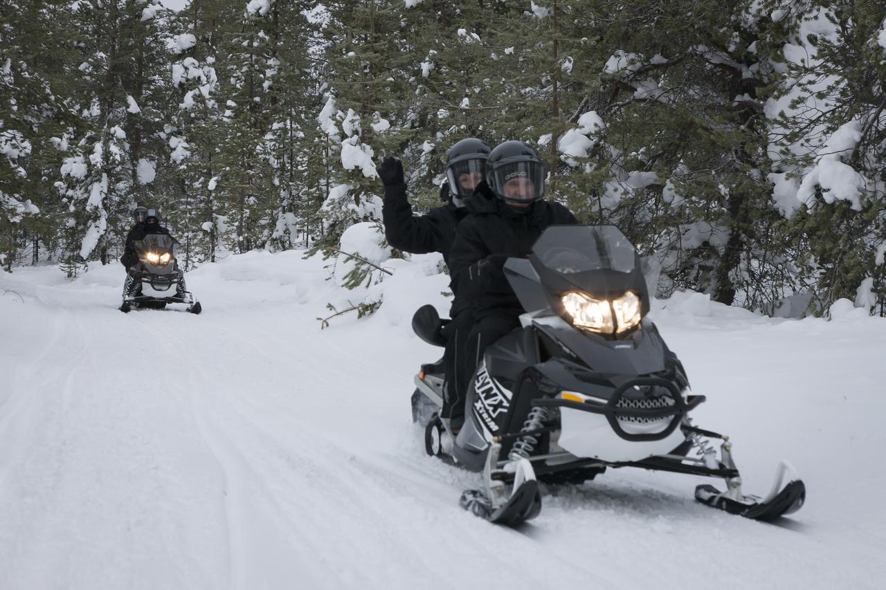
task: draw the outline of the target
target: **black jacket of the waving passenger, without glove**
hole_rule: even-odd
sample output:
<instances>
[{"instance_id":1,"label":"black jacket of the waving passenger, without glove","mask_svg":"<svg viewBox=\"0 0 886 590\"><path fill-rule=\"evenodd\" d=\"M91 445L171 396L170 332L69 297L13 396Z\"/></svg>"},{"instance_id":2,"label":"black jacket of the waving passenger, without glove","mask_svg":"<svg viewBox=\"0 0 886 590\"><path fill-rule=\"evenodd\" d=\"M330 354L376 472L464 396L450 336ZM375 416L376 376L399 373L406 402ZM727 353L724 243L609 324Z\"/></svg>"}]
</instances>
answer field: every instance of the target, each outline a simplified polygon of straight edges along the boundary
<instances>
[{"instance_id":1,"label":"black jacket of the waving passenger, without glove","mask_svg":"<svg viewBox=\"0 0 886 590\"><path fill-rule=\"evenodd\" d=\"M451 202L424 215L413 215L406 198L406 185L385 187L385 204L382 206L385 237L388 244L403 252L440 252L448 266L455 228L465 215L467 211L463 207L456 207Z\"/></svg>"}]
</instances>

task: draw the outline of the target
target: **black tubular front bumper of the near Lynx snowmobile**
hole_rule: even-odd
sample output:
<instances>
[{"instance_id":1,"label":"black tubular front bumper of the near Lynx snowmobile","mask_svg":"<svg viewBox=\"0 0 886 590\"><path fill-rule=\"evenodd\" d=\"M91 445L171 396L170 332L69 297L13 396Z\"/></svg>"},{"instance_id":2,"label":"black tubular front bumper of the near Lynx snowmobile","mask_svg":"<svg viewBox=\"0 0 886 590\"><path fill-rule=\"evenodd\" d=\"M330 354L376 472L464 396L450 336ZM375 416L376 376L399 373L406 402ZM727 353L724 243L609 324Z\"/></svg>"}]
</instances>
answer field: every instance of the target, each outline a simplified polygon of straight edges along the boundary
<instances>
[{"instance_id":1,"label":"black tubular front bumper of the near Lynx snowmobile","mask_svg":"<svg viewBox=\"0 0 886 590\"><path fill-rule=\"evenodd\" d=\"M668 390L668 392L670 392L670 397L673 400L673 405L669 408L619 408L618 402L622 400L625 396L625 393L628 390L632 389L634 386L664 387ZM606 419L607 421L609 421L612 430L615 431L615 433L618 434L618 436L622 439L660 440L666 438L674 430L676 430L677 426L680 425L680 420L682 419L683 415L685 415L689 410L696 408L699 404L703 403L704 400L706 400L706 398L703 395L693 395L689 396L687 401L684 401L683 396L680 394L680 390L678 389L677 385L668 379L664 379L662 377L637 377L619 385L615 389L615 391L612 392L612 396L606 403L596 403L591 400L572 401L563 399L541 398L539 400L532 400L532 406L541 406L546 408L572 408L581 410L582 412L590 412L591 414L602 414L606 416ZM668 416L673 416L673 418L671 420L671 423L669 423L663 431L652 432L648 434L633 434L631 432L627 432L618 422L619 417L651 419L666 418Z\"/></svg>"}]
</instances>

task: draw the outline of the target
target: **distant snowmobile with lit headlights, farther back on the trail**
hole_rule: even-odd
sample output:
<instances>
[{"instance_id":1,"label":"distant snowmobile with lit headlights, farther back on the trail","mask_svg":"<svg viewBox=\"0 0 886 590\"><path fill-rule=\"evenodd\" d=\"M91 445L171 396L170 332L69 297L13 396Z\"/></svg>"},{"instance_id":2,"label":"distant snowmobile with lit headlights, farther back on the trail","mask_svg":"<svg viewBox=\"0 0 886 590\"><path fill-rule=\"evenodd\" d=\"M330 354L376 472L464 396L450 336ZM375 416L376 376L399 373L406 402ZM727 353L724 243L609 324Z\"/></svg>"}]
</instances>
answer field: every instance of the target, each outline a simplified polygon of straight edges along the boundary
<instances>
[{"instance_id":1,"label":"distant snowmobile with lit headlights, farther back on the trail","mask_svg":"<svg viewBox=\"0 0 886 590\"><path fill-rule=\"evenodd\" d=\"M191 314L202 311L199 301L185 287L184 271L175 260L173 244L173 238L166 234L148 234L136 242L138 262L128 270L121 312L139 307L163 309L168 303L183 303Z\"/></svg>"}]
</instances>

